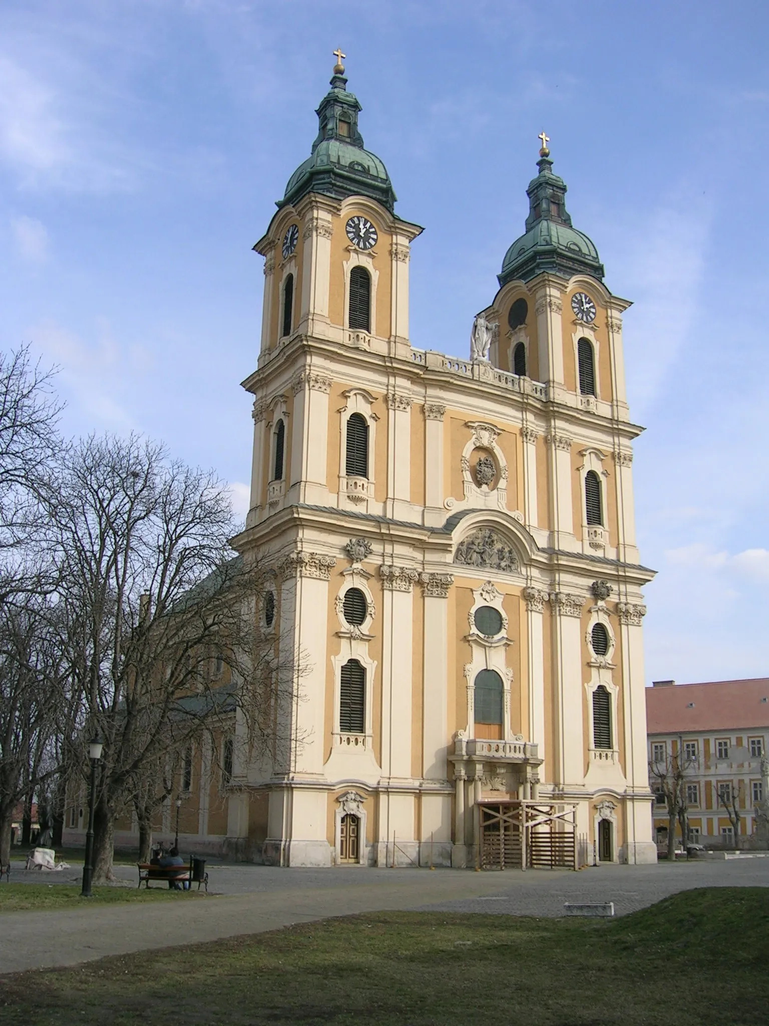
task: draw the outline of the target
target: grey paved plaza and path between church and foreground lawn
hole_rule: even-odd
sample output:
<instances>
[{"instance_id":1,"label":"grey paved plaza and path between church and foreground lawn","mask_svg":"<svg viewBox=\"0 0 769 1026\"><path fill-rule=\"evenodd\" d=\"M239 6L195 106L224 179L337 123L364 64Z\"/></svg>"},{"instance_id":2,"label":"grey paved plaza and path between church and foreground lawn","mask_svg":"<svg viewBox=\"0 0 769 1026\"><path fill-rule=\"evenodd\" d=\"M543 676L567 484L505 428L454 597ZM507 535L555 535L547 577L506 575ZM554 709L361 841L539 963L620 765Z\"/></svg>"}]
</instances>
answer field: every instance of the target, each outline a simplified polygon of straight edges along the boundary
<instances>
[{"instance_id":1,"label":"grey paved plaza and path between church and foreground lawn","mask_svg":"<svg viewBox=\"0 0 769 1026\"><path fill-rule=\"evenodd\" d=\"M80 881L62 873L23 871L15 882ZM767 886L769 858L566 871L473 872L428 869L276 869L209 865L211 898L178 903L108 905L2 914L0 972L73 965L104 955L213 941L296 922L377 910L563 915L565 902L614 902L617 915L692 887ZM136 870L116 875L135 882ZM5 884L0 884L4 886Z\"/></svg>"}]
</instances>

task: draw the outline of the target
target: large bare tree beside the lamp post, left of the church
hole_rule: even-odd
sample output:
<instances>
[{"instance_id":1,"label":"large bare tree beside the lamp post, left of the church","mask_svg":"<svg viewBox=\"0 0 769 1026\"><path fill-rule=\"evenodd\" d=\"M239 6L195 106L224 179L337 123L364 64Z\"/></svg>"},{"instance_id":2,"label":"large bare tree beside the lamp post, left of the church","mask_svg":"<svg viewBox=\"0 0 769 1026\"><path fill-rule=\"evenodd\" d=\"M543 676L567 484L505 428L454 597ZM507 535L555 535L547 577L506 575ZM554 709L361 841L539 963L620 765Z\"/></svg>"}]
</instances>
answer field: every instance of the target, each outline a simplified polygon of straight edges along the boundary
<instances>
[{"instance_id":1,"label":"large bare tree beside the lamp post, left of the church","mask_svg":"<svg viewBox=\"0 0 769 1026\"><path fill-rule=\"evenodd\" d=\"M274 642L255 641L266 573L233 556L229 492L210 473L136 436L91 437L68 456L55 490L58 600L83 703L72 754L83 777L90 735L104 741L99 880L112 875L116 819L137 800L154 803L159 767L189 739L220 732L237 708L249 745L274 742L280 673ZM221 676L211 673L214 650ZM289 687L295 676L291 668ZM143 796L136 782L151 779Z\"/></svg>"}]
</instances>

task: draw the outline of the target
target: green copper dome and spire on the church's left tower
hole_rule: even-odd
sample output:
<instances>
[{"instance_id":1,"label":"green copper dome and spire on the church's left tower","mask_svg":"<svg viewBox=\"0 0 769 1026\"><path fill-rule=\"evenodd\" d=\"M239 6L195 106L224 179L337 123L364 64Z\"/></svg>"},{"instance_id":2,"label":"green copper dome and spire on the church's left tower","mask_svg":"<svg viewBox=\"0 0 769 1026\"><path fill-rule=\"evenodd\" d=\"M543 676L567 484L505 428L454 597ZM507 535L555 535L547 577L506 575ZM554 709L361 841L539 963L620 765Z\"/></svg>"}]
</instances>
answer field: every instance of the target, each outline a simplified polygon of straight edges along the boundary
<instances>
[{"instance_id":1,"label":"green copper dome and spire on the church's left tower","mask_svg":"<svg viewBox=\"0 0 769 1026\"><path fill-rule=\"evenodd\" d=\"M331 78L331 89L316 111L319 129L312 154L288 180L279 207L316 192L334 199L369 196L393 209L396 195L390 175L379 158L363 149L358 131L361 105L347 91L347 81L340 74Z\"/></svg>"}]
</instances>

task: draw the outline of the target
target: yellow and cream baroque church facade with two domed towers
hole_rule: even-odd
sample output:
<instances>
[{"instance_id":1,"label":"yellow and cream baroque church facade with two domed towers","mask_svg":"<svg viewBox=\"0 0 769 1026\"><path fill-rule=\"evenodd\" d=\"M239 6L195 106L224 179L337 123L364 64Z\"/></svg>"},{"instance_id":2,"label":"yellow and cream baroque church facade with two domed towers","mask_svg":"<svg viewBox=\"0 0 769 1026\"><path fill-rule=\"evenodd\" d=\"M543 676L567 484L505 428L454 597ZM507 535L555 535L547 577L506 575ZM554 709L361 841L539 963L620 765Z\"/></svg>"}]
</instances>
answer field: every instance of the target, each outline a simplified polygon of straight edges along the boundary
<instances>
[{"instance_id":1,"label":"yellow and cream baroque church facade with two domed towers","mask_svg":"<svg viewBox=\"0 0 769 1026\"><path fill-rule=\"evenodd\" d=\"M260 628L302 669L291 740L270 764L236 757L222 842L286 866L654 861L630 304L542 135L470 358L414 348L421 228L395 213L340 64L330 86L254 246L234 541L274 568Z\"/></svg>"}]
</instances>

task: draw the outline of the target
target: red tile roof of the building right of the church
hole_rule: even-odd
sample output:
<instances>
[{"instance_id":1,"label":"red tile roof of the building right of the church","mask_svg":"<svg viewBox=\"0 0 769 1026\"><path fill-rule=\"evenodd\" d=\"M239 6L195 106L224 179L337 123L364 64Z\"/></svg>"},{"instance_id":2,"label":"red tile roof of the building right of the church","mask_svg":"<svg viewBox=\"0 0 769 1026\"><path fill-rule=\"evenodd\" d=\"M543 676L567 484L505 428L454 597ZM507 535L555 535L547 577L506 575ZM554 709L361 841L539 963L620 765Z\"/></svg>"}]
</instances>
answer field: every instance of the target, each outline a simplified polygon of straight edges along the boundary
<instances>
[{"instance_id":1,"label":"red tile roof of the building right of the church","mask_svg":"<svg viewBox=\"0 0 769 1026\"><path fill-rule=\"evenodd\" d=\"M649 734L756 727L769 729L769 677L646 688Z\"/></svg>"}]
</instances>

